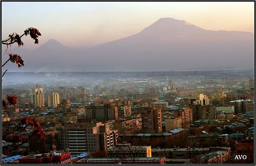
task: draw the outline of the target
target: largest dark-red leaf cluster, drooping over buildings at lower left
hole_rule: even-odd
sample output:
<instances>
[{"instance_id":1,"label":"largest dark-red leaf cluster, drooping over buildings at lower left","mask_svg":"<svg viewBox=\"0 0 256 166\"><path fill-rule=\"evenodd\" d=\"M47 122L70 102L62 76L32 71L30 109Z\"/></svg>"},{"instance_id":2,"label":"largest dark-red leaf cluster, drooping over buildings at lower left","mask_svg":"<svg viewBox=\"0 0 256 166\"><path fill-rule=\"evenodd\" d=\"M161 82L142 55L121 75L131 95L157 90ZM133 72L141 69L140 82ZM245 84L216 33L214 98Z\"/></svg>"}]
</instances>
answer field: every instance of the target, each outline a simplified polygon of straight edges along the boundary
<instances>
[{"instance_id":1,"label":"largest dark-red leaf cluster, drooping over buildings at lower left","mask_svg":"<svg viewBox=\"0 0 256 166\"><path fill-rule=\"evenodd\" d=\"M39 122L34 118L30 117L22 117L20 119L21 125L31 125L31 127L34 128L34 131L32 132L32 135L35 135L38 138L45 138L47 135L45 134L44 130L41 128Z\"/></svg>"}]
</instances>

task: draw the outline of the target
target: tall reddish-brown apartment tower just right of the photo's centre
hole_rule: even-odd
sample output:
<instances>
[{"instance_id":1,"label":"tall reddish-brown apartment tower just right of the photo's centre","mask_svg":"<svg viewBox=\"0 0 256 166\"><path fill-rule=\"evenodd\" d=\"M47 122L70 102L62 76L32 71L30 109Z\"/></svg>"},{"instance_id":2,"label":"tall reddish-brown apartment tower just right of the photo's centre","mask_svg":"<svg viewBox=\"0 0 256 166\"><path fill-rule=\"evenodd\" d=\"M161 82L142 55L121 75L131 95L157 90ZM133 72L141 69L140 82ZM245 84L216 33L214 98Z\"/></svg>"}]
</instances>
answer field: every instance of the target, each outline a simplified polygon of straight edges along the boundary
<instances>
[{"instance_id":1,"label":"tall reddish-brown apartment tower just right of the photo's centre","mask_svg":"<svg viewBox=\"0 0 256 166\"><path fill-rule=\"evenodd\" d=\"M162 132L162 115L161 109L144 108L141 111L142 130L144 133L161 133Z\"/></svg>"}]
</instances>

